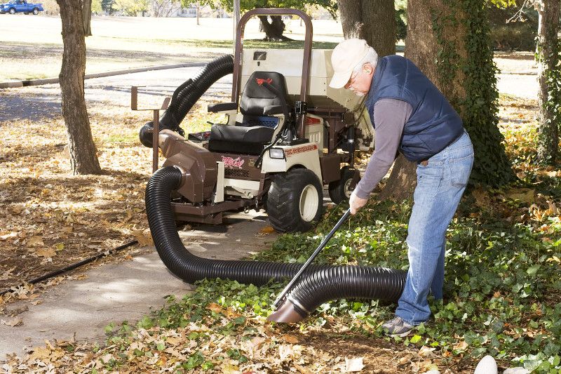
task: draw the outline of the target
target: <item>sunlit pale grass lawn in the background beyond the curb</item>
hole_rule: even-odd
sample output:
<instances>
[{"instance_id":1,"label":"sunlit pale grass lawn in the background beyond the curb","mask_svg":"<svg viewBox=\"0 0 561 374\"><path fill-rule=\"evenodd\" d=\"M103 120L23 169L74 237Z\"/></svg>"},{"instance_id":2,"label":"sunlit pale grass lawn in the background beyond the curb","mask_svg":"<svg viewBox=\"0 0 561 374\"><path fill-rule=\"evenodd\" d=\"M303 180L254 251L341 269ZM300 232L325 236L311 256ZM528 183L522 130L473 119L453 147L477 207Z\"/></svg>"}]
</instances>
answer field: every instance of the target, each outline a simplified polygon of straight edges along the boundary
<instances>
[{"instance_id":1,"label":"sunlit pale grass lawn in the background beyond the curb","mask_svg":"<svg viewBox=\"0 0 561 374\"><path fill-rule=\"evenodd\" d=\"M62 61L60 17L2 15L0 81L58 76ZM299 20L288 20L285 35L304 39ZM133 67L206 62L233 53L234 23L229 18L92 18L93 36L86 38L86 74ZM246 48L255 48L263 34L257 19L245 28ZM334 48L343 39L334 20L313 20L314 48ZM274 44L275 48L290 44Z\"/></svg>"}]
</instances>

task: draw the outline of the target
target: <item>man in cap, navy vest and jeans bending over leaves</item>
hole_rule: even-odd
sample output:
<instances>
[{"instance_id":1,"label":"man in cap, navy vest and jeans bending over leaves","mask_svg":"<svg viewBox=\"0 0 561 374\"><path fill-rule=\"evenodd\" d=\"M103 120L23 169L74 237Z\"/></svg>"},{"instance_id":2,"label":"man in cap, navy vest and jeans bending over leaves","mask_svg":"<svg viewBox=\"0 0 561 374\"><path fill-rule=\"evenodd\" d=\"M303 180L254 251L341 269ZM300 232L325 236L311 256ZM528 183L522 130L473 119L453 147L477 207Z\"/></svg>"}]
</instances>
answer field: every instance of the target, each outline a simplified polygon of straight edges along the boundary
<instances>
[{"instance_id":1,"label":"man in cap, navy vest and jeans bending over leaves","mask_svg":"<svg viewBox=\"0 0 561 374\"><path fill-rule=\"evenodd\" d=\"M351 213L365 206L397 152L417 163L407 232L410 267L396 316L382 325L386 334L404 337L431 316L428 293L442 298L445 233L471 173L473 146L460 116L410 60L378 58L366 41L348 39L331 61L330 86L367 95L364 105L376 131L374 152L349 199Z\"/></svg>"}]
</instances>

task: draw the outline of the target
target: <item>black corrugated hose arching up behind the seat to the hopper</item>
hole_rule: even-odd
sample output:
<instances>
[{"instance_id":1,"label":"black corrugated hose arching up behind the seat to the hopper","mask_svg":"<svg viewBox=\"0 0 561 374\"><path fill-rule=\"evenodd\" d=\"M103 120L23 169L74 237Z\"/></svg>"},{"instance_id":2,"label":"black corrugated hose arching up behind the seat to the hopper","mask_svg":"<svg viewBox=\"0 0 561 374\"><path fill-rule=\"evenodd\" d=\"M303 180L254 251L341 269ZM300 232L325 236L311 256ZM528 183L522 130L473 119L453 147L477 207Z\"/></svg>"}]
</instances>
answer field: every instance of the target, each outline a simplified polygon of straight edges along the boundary
<instances>
[{"instance_id":1,"label":"black corrugated hose arching up behind the seat to the hopper","mask_svg":"<svg viewBox=\"0 0 561 374\"><path fill-rule=\"evenodd\" d=\"M234 72L234 57L232 55L222 55L208 62L203 69L199 70L196 76L188 79L181 86L177 87L173 93L168 109L165 109L160 119L160 129L168 128L172 131L184 135L180 123L199 98L214 84L218 79ZM152 135L148 130L154 129L154 122L149 121L140 128L140 142L146 147L152 147Z\"/></svg>"}]
</instances>

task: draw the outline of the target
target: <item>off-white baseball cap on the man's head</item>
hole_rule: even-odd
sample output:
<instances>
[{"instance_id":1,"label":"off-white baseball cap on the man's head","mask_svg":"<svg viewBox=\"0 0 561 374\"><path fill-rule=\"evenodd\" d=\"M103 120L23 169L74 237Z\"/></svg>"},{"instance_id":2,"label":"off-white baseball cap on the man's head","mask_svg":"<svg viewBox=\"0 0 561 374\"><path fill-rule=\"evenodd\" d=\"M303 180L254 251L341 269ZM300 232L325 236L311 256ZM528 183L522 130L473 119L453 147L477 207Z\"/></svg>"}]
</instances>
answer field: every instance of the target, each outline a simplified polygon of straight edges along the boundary
<instances>
[{"instance_id":1,"label":"off-white baseball cap on the man's head","mask_svg":"<svg viewBox=\"0 0 561 374\"><path fill-rule=\"evenodd\" d=\"M363 39L346 39L337 44L331 55L334 74L329 86L344 87L351 79L354 67L366 57L367 53L368 44Z\"/></svg>"}]
</instances>

